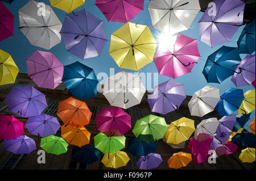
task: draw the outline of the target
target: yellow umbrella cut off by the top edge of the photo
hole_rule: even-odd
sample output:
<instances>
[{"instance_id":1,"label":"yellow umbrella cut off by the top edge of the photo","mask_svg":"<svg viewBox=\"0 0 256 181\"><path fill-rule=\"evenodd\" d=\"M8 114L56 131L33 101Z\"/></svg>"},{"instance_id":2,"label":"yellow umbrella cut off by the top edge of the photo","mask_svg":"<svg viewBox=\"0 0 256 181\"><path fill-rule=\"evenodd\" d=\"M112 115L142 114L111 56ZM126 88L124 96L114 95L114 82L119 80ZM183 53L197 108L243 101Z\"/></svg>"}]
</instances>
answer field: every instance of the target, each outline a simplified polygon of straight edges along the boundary
<instances>
[{"instance_id":1,"label":"yellow umbrella cut off by the top edge of the photo","mask_svg":"<svg viewBox=\"0 0 256 181\"><path fill-rule=\"evenodd\" d=\"M85 0L49 0L53 7L61 9L66 12L71 12L77 7L84 5Z\"/></svg>"}]
</instances>

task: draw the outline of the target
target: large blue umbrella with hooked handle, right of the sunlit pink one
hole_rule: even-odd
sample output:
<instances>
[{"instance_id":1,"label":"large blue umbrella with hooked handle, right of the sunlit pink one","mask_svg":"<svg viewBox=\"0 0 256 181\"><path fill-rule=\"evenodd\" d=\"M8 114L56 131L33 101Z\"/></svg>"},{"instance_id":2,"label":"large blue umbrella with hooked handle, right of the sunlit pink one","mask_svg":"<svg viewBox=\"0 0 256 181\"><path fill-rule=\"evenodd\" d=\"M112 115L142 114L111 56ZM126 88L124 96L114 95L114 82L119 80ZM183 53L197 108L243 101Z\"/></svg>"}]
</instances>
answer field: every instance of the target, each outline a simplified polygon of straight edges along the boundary
<instances>
[{"instance_id":1,"label":"large blue umbrella with hooked handle, right of the sunlit pink one","mask_svg":"<svg viewBox=\"0 0 256 181\"><path fill-rule=\"evenodd\" d=\"M240 62L237 48L223 46L207 58L203 70L204 77L208 83L221 83L234 73L241 73L235 71Z\"/></svg>"}]
</instances>

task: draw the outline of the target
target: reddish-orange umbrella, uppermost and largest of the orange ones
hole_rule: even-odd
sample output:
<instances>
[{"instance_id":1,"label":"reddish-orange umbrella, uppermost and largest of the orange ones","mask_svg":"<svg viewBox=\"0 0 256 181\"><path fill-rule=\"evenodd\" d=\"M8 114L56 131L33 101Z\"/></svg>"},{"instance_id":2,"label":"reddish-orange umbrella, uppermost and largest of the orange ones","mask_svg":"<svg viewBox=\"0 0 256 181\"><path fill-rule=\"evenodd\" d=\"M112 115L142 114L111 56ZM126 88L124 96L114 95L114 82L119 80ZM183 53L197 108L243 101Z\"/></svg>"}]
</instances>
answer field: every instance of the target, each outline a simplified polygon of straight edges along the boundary
<instances>
[{"instance_id":1,"label":"reddish-orange umbrella, uppermost and largest of the orange ones","mask_svg":"<svg viewBox=\"0 0 256 181\"><path fill-rule=\"evenodd\" d=\"M90 112L85 102L68 98L59 103L57 115L65 125L75 124L83 126L89 124L92 112Z\"/></svg>"}]
</instances>

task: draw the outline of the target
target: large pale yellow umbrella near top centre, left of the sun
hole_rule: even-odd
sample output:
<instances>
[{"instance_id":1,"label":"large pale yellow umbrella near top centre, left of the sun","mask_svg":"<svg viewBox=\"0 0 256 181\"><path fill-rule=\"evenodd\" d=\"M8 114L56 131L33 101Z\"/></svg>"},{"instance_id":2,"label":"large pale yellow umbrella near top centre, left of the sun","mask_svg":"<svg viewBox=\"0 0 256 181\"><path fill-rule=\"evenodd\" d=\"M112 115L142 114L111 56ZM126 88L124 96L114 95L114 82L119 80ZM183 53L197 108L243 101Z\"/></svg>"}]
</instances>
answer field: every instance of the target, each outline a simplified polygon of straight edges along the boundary
<instances>
[{"instance_id":1,"label":"large pale yellow umbrella near top centre, left of the sun","mask_svg":"<svg viewBox=\"0 0 256 181\"><path fill-rule=\"evenodd\" d=\"M112 33L109 54L119 68L138 71L153 61L157 44L148 26L127 22Z\"/></svg>"}]
</instances>

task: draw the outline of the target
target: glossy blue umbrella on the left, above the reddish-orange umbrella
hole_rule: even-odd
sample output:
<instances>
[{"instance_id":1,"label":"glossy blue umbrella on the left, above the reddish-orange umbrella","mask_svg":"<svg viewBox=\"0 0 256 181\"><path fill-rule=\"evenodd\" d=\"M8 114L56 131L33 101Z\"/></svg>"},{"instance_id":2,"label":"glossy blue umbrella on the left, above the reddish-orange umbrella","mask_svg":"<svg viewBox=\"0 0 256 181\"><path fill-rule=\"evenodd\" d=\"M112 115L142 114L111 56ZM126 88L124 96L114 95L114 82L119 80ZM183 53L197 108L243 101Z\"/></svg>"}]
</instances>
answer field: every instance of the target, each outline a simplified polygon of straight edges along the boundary
<instances>
[{"instance_id":1,"label":"glossy blue umbrella on the left, above the reddish-orange umbrella","mask_svg":"<svg viewBox=\"0 0 256 181\"><path fill-rule=\"evenodd\" d=\"M99 82L93 69L80 62L64 66L62 81L69 94L81 100L94 98L97 95Z\"/></svg>"}]
</instances>

